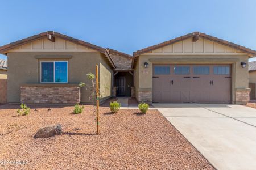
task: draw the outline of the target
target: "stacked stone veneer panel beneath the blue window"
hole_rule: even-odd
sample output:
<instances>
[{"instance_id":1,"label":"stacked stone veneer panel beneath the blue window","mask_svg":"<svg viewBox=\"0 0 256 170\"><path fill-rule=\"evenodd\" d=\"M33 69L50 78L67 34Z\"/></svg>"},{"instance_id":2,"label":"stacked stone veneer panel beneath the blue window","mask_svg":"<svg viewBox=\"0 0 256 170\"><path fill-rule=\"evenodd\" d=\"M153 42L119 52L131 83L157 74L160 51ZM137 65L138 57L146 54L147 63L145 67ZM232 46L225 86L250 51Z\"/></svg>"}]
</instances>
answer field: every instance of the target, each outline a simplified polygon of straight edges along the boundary
<instances>
[{"instance_id":1,"label":"stacked stone veneer panel beneath the blue window","mask_svg":"<svg viewBox=\"0 0 256 170\"><path fill-rule=\"evenodd\" d=\"M38 84L20 86L21 103L80 103L81 92L77 85L57 86L54 84Z\"/></svg>"}]
</instances>

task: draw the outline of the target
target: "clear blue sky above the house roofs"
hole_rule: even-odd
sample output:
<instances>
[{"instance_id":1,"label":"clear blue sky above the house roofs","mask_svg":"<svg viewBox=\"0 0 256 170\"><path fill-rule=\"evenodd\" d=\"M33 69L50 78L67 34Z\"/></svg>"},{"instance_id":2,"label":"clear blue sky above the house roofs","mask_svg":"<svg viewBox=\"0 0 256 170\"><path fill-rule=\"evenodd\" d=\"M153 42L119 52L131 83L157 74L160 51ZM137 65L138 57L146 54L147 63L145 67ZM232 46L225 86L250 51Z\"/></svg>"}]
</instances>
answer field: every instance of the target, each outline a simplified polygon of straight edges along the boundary
<instances>
[{"instance_id":1,"label":"clear blue sky above the house roofs","mask_svg":"<svg viewBox=\"0 0 256 170\"><path fill-rule=\"evenodd\" d=\"M255 50L255 11L255 0L8 0L1 1L0 46L53 30L132 54L200 31Z\"/></svg>"}]
</instances>

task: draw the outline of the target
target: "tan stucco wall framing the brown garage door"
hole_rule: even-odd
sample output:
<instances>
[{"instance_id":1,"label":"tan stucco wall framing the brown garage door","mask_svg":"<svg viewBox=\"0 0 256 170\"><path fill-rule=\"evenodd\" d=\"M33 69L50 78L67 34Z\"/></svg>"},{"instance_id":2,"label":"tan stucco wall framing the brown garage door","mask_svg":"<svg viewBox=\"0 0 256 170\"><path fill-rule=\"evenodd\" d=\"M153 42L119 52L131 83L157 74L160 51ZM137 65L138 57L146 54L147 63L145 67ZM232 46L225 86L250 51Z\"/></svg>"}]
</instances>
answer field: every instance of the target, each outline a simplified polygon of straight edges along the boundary
<instances>
[{"instance_id":1,"label":"tan stucco wall framing the brown garage door","mask_svg":"<svg viewBox=\"0 0 256 170\"><path fill-rule=\"evenodd\" d=\"M148 68L144 68L144 62L148 63ZM244 55L141 55L135 63L135 86L137 86L136 96L139 100L140 91L152 91L152 73L154 63L170 64L192 64L192 63L229 63L232 64L232 102L236 102L235 92L237 89L248 88L249 74L248 68L242 68L241 62L248 63L248 56ZM247 90L246 90L247 91Z\"/></svg>"}]
</instances>

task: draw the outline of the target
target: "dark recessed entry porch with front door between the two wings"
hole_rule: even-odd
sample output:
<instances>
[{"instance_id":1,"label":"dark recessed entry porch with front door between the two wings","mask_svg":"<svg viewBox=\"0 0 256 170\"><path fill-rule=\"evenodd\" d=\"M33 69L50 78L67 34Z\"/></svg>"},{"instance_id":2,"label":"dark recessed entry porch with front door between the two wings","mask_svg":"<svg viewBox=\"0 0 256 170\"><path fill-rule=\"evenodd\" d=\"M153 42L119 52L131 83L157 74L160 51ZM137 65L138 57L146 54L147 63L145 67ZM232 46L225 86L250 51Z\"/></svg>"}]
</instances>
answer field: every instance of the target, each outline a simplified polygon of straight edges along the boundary
<instances>
[{"instance_id":1,"label":"dark recessed entry porch with front door between the two wings","mask_svg":"<svg viewBox=\"0 0 256 170\"><path fill-rule=\"evenodd\" d=\"M134 70L114 70L112 95L135 97Z\"/></svg>"}]
</instances>

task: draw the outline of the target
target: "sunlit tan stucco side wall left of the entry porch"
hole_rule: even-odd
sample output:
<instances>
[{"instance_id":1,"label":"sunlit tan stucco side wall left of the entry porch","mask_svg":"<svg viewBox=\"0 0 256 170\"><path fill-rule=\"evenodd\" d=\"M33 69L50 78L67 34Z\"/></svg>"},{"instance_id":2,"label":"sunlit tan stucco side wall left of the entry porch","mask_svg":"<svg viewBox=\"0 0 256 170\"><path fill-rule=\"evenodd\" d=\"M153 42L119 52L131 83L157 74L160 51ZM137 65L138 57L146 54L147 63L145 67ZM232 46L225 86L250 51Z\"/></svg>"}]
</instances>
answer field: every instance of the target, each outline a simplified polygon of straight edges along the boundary
<instances>
[{"instance_id":1,"label":"sunlit tan stucco side wall left of the entry porch","mask_svg":"<svg viewBox=\"0 0 256 170\"><path fill-rule=\"evenodd\" d=\"M102 100L111 96L112 68L104 55L100 57L100 91Z\"/></svg>"}]
</instances>

